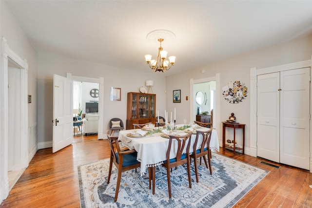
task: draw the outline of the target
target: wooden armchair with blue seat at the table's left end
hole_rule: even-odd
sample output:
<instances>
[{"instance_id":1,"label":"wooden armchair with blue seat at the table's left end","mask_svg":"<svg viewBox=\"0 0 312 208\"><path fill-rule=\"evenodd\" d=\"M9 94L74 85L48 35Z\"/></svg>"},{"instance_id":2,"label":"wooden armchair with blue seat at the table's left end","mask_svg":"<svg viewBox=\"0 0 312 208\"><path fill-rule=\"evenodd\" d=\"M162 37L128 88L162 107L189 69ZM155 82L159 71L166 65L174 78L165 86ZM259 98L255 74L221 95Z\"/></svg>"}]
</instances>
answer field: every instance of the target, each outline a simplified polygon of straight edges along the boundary
<instances>
[{"instance_id":1,"label":"wooden armchair with blue seat at the table's left end","mask_svg":"<svg viewBox=\"0 0 312 208\"><path fill-rule=\"evenodd\" d=\"M140 162L137 161L137 151L135 150L125 150L122 151L119 147L119 140L117 136L110 136L109 130L107 130L107 137L109 141L109 146L111 149L111 156L110 156L110 162L109 162L109 172L108 172L108 178L107 178L107 184L109 184L109 181L111 179L111 173L113 168L113 163L115 164L117 168L117 185L116 185L116 193L115 193L115 202L117 201L119 187L120 187L120 180L121 180L121 172L136 169L140 167ZM116 150L115 151L115 147Z\"/></svg>"}]
</instances>

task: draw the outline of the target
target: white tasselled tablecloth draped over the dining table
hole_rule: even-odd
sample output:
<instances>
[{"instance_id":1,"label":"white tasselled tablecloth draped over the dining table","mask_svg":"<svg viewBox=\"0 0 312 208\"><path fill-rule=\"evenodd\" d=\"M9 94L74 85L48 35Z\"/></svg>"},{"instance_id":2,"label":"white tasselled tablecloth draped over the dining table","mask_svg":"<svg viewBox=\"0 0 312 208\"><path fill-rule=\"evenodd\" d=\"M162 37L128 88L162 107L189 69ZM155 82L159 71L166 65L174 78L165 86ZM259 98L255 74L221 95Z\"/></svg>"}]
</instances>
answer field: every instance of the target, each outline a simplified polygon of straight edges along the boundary
<instances>
[{"instance_id":1,"label":"white tasselled tablecloth draped over the dining table","mask_svg":"<svg viewBox=\"0 0 312 208\"><path fill-rule=\"evenodd\" d=\"M201 128L198 130L205 131L208 130L208 128ZM141 174L144 174L146 172L147 167L160 165L162 164L162 161L166 160L166 152L169 144L168 138L161 137L160 132L154 133L153 135L146 135L140 138L127 136L127 133L132 131L134 130L120 131L119 140L122 142L123 146L126 146L131 150L134 149L137 151L137 160L141 162ZM183 135L184 132L177 131L177 133ZM190 153L193 153L193 144L195 142L195 137L196 134L192 134ZM201 139L202 137L198 139L198 147L201 144ZM173 142L170 152L170 158L176 157L176 149L176 143ZM215 129L212 131L211 134L210 149L219 151L219 141Z\"/></svg>"}]
</instances>

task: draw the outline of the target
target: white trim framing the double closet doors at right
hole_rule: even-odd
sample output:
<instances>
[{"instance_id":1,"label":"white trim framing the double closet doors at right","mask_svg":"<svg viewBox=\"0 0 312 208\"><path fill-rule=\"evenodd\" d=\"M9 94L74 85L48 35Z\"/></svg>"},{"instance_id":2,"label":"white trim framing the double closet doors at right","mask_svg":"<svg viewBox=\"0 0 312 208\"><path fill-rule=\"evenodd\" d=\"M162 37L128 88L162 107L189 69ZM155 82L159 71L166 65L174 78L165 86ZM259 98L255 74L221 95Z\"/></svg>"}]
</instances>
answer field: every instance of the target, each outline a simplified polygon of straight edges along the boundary
<instances>
[{"instance_id":1,"label":"white trim framing the double closet doors at right","mask_svg":"<svg viewBox=\"0 0 312 208\"><path fill-rule=\"evenodd\" d=\"M278 65L268 68L257 69L253 67L250 69L250 155L257 156L257 76L274 72L282 72L292 69L300 69L310 67L312 68L312 56L310 60L299 61L284 65ZM310 78L311 79L311 78ZM310 81L311 92L311 81ZM310 95L310 113L312 112L312 96ZM311 117L311 115L310 115ZM310 120L310 155L312 152L312 122ZM312 172L312 158L310 157L310 172Z\"/></svg>"}]
</instances>

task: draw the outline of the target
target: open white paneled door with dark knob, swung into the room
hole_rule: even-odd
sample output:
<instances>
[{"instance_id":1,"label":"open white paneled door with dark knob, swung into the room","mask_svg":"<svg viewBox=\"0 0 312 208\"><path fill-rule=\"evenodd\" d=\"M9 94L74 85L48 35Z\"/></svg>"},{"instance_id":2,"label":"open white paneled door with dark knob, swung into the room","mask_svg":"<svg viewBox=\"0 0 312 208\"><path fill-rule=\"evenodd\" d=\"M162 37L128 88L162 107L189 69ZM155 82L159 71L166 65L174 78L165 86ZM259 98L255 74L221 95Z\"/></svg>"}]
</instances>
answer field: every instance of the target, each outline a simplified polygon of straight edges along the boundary
<instances>
[{"instance_id":1,"label":"open white paneled door with dark knob, swung into the room","mask_svg":"<svg viewBox=\"0 0 312 208\"><path fill-rule=\"evenodd\" d=\"M73 141L73 81L54 75L53 86L53 152L56 152Z\"/></svg>"}]
</instances>

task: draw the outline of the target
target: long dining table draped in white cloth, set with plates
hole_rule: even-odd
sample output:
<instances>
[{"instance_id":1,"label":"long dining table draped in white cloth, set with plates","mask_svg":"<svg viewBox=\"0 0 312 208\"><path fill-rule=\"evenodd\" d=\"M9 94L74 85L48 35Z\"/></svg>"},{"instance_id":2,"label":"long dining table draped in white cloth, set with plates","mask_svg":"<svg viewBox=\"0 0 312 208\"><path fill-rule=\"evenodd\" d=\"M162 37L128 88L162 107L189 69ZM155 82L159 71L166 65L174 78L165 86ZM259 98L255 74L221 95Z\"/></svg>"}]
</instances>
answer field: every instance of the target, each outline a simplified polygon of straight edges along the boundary
<instances>
[{"instance_id":1,"label":"long dining table draped in white cloth, set with plates","mask_svg":"<svg viewBox=\"0 0 312 208\"><path fill-rule=\"evenodd\" d=\"M180 124L176 125L176 129L179 129L185 125ZM161 130L164 127L159 127ZM154 128L158 129L158 127ZM189 131L192 132L190 141L191 148L190 154L193 153L193 145L195 143L196 131L208 131L209 128L206 127L194 127L188 128L185 130L175 130L174 132L170 132L170 134L176 135L186 135ZM144 132L146 132L144 134ZM166 132L166 131L164 131ZM146 169L148 167L154 167L163 164L163 161L166 160L166 152L169 144L169 136L168 133L164 132L154 132L149 131L149 129L131 129L120 131L118 135L118 139L121 141L122 147L127 147L130 150L137 151L137 161L141 163L140 165L140 173L141 175L146 173ZM139 133L144 135L139 135ZM137 135L137 136L136 136ZM202 142L202 135L199 135L197 147L198 149ZM219 151L219 139L217 136L217 132L213 129L210 140L210 149ZM172 143L172 148L170 152L170 159L176 157L177 150L177 142ZM186 147L184 148L184 153L186 152Z\"/></svg>"}]
</instances>

